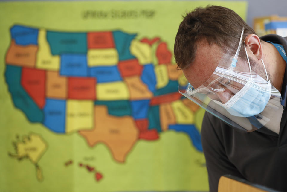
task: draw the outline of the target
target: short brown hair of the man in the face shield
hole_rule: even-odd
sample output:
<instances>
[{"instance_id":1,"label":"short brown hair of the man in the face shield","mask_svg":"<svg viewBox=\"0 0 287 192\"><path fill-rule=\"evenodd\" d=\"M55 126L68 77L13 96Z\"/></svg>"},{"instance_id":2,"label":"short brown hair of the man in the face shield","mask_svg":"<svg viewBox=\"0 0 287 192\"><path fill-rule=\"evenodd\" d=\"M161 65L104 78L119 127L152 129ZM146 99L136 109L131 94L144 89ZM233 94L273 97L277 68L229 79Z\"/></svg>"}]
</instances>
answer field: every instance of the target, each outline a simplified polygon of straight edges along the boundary
<instances>
[{"instance_id":1,"label":"short brown hair of the man in the face shield","mask_svg":"<svg viewBox=\"0 0 287 192\"><path fill-rule=\"evenodd\" d=\"M242 27L245 28L243 41L249 34L256 34L233 10L221 6L197 7L183 16L174 43L174 56L178 69L186 69L193 62L197 45L206 39L209 45L216 43L225 52L235 54ZM242 43L239 57L244 57ZM246 56L245 56L246 57Z\"/></svg>"}]
</instances>

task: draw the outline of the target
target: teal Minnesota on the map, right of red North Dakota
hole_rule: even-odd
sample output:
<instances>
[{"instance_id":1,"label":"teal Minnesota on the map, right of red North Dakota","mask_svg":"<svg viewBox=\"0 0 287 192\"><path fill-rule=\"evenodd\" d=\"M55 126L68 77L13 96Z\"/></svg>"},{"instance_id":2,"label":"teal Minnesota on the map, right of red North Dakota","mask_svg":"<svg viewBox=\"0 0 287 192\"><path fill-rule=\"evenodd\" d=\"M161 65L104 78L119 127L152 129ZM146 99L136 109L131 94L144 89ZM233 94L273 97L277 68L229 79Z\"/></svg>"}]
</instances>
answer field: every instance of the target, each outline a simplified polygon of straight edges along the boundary
<instances>
[{"instance_id":1,"label":"teal Minnesota on the map, right of red North Dakota","mask_svg":"<svg viewBox=\"0 0 287 192\"><path fill-rule=\"evenodd\" d=\"M130 46L132 40L137 34L128 34L122 31L113 31L115 45L119 54L119 60L135 59L136 57L131 54Z\"/></svg>"}]
</instances>

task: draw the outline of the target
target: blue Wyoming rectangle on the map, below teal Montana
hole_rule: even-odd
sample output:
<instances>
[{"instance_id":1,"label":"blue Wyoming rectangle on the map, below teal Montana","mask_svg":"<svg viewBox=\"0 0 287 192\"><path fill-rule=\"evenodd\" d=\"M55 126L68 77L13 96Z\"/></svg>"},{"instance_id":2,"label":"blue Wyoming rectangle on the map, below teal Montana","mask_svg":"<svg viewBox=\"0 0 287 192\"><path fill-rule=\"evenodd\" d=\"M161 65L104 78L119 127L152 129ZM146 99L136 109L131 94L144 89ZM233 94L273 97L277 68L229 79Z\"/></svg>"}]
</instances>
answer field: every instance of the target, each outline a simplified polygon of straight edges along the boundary
<instances>
[{"instance_id":1,"label":"blue Wyoming rectangle on the map, below teal Montana","mask_svg":"<svg viewBox=\"0 0 287 192\"><path fill-rule=\"evenodd\" d=\"M87 56L82 54L61 55L60 74L65 76L87 77Z\"/></svg>"}]
</instances>

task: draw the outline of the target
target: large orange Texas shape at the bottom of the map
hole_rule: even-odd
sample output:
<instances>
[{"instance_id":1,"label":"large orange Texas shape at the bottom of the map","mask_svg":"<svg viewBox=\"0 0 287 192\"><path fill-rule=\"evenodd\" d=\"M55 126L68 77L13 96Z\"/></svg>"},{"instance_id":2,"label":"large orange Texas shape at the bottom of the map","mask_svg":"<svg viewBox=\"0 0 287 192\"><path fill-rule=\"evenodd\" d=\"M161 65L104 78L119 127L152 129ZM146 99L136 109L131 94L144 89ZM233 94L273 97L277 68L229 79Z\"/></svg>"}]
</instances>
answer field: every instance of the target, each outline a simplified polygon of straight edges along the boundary
<instances>
[{"instance_id":1,"label":"large orange Texas shape at the bottom of the map","mask_svg":"<svg viewBox=\"0 0 287 192\"><path fill-rule=\"evenodd\" d=\"M108 115L106 106L94 107L94 129L79 131L93 147L97 143L106 144L116 161L124 162L126 155L138 140L138 129L132 117Z\"/></svg>"}]
</instances>

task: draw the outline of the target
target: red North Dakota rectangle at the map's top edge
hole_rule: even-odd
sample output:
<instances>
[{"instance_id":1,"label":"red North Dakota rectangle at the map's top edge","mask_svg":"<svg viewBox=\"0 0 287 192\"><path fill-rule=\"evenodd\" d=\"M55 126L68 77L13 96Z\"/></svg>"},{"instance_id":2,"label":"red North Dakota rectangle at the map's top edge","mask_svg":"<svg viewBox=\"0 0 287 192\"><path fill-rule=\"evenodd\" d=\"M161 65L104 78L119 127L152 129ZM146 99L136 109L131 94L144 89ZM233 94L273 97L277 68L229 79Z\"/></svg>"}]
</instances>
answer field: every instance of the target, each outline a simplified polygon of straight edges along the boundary
<instances>
[{"instance_id":1,"label":"red North Dakota rectangle at the map's top edge","mask_svg":"<svg viewBox=\"0 0 287 192\"><path fill-rule=\"evenodd\" d=\"M87 35L88 48L114 48L114 37L112 32L90 32Z\"/></svg>"}]
</instances>

